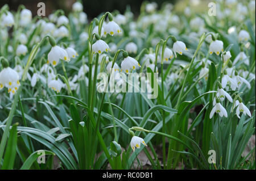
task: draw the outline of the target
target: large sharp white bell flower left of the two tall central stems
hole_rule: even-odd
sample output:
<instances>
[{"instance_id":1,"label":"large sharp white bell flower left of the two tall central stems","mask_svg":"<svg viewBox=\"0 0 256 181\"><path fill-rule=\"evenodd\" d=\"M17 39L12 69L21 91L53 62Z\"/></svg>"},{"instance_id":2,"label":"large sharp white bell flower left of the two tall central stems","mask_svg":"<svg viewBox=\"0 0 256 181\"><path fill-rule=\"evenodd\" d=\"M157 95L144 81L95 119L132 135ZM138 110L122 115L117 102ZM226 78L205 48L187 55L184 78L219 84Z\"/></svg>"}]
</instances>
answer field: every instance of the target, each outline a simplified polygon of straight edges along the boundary
<instances>
[{"instance_id":1,"label":"large sharp white bell flower left of the two tall central stems","mask_svg":"<svg viewBox=\"0 0 256 181\"><path fill-rule=\"evenodd\" d=\"M48 53L47 64L51 63L53 66L56 66L60 59L69 61L68 53L65 49L55 45Z\"/></svg>"}]
</instances>

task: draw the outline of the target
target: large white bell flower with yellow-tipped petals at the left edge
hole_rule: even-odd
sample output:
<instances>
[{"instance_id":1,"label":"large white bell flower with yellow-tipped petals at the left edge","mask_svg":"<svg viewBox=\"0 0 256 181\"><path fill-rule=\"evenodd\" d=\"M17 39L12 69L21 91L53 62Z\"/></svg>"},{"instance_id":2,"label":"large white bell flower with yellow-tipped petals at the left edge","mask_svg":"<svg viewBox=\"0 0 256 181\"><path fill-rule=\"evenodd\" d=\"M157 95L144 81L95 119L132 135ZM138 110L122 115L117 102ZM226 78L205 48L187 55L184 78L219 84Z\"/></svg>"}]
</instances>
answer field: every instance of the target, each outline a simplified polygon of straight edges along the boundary
<instances>
[{"instance_id":1,"label":"large white bell flower with yellow-tipped petals at the left edge","mask_svg":"<svg viewBox=\"0 0 256 181\"><path fill-rule=\"evenodd\" d=\"M7 87L9 93L15 94L19 86L19 74L10 67L3 68L0 72L0 90Z\"/></svg>"}]
</instances>

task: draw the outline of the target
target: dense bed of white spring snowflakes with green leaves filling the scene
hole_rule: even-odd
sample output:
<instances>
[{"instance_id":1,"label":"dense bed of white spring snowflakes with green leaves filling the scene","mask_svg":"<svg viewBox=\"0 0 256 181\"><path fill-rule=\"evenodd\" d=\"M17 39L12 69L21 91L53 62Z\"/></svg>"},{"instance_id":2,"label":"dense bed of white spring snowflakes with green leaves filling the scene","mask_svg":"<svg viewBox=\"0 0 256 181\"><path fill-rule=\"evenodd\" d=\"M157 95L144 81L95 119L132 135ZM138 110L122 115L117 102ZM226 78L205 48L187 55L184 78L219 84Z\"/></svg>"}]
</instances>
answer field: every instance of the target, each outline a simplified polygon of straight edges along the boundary
<instances>
[{"instance_id":1,"label":"dense bed of white spring snowflakes with green leaves filling the scene","mask_svg":"<svg viewBox=\"0 0 256 181\"><path fill-rule=\"evenodd\" d=\"M91 20L81 1L1 7L0 169L255 169L255 1L190 2ZM130 75L147 91L115 91Z\"/></svg>"}]
</instances>

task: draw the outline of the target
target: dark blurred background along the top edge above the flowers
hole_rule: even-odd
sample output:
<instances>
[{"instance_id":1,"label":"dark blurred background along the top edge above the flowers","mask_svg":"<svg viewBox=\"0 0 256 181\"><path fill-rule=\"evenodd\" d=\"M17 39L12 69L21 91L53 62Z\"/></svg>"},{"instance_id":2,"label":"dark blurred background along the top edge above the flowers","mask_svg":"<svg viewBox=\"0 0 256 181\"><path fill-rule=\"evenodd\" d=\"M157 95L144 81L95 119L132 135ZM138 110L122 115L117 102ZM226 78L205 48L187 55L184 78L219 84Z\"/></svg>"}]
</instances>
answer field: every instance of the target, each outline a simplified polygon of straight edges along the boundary
<instances>
[{"instance_id":1,"label":"dark blurred background along the top edge above the flowers","mask_svg":"<svg viewBox=\"0 0 256 181\"><path fill-rule=\"evenodd\" d=\"M17 10L20 4L26 6L27 9L32 11L33 15L36 15L38 10L37 4L44 2L46 4L46 15L51 14L52 11L62 9L65 12L72 10L72 4L76 0L1 0L0 7L8 4L10 10ZM130 8L135 15L139 14L141 4L143 0L83 0L84 11L88 15L89 19L92 19L99 15L101 12L118 10L119 12L125 12L126 8ZM152 2L152 1L149 1ZM163 2L176 2L176 0L157 0L154 1L161 6Z\"/></svg>"}]
</instances>

